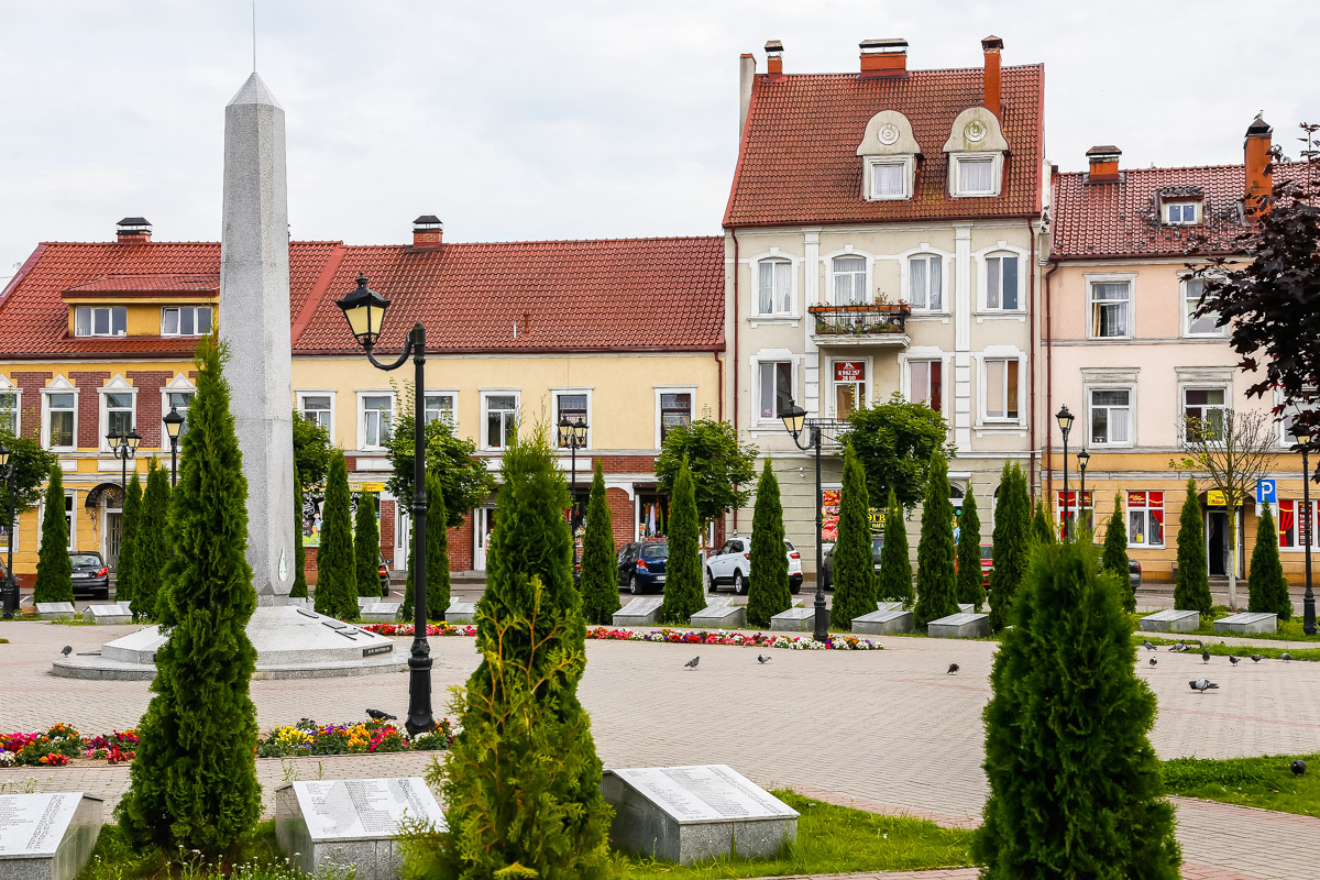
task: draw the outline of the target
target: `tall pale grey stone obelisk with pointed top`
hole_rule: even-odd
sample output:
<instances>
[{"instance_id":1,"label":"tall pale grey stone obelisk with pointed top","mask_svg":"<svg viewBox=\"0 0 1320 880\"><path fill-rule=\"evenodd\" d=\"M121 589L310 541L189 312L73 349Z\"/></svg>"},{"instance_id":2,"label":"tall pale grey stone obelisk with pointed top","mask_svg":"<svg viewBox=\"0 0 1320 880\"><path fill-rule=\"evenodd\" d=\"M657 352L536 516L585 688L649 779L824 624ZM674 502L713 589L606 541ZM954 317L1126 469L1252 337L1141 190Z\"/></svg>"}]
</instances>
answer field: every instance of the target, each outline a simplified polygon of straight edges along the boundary
<instances>
[{"instance_id":1,"label":"tall pale grey stone obelisk with pointed top","mask_svg":"<svg viewBox=\"0 0 1320 880\"><path fill-rule=\"evenodd\" d=\"M257 604L293 587L293 389L284 108L255 73L224 108L220 339L248 483Z\"/></svg>"}]
</instances>

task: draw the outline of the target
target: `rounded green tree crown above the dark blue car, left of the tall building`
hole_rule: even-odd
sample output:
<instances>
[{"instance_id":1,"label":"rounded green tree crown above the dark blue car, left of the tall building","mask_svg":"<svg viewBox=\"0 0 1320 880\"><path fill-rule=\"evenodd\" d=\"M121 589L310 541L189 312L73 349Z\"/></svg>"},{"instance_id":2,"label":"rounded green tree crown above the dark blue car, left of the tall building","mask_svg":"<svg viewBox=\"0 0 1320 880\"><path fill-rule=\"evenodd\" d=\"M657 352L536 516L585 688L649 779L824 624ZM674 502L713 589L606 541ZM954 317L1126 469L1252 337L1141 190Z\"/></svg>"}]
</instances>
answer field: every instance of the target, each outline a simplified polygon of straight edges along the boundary
<instances>
[{"instance_id":1,"label":"rounded green tree crown above the dark blue car, left of the tall building","mask_svg":"<svg viewBox=\"0 0 1320 880\"><path fill-rule=\"evenodd\" d=\"M671 427L656 458L656 484L671 499L684 462L692 475L697 526L704 536L708 524L747 503L751 491L742 487L756 479L756 447L739 443L729 422L698 418Z\"/></svg>"}]
</instances>

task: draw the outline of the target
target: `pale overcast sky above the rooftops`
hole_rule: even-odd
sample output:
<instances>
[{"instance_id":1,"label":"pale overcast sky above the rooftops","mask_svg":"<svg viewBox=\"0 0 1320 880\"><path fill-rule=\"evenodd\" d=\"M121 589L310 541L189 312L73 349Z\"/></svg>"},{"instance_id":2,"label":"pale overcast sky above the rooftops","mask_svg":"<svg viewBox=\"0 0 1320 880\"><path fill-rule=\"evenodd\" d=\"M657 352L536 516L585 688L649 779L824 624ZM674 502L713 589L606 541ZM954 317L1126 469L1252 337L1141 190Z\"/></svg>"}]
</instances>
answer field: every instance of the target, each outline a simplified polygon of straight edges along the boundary
<instances>
[{"instance_id":1,"label":"pale overcast sky above the rooftops","mask_svg":"<svg viewBox=\"0 0 1320 880\"><path fill-rule=\"evenodd\" d=\"M853 71L1045 65L1064 170L1242 161L1265 111L1296 154L1320 121L1320 3L257 0L257 69L288 113L296 239L401 243L718 234L738 55ZM252 67L249 0L0 0L0 280L38 241L216 240L224 104ZM0 342L3 344L3 342Z\"/></svg>"}]
</instances>

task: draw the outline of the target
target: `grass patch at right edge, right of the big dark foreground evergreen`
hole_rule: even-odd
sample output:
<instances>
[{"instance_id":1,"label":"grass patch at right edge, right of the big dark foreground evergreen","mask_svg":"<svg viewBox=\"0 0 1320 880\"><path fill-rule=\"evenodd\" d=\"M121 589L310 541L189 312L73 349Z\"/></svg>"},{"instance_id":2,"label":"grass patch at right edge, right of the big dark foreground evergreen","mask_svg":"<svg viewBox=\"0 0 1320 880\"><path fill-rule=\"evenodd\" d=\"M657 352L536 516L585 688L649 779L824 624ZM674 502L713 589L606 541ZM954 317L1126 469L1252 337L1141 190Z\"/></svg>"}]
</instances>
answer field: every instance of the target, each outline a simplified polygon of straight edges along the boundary
<instances>
[{"instance_id":1,"label":"grass patch at right edge, right of the big dark foreground evergreen","mask_svg":"<svg viewBox=\"0 0 1320 880\"><path fill-rule=\"evenodd\" d=\"M1304 776L1288 769L1298 757L1307 763ZM1170 794L1320 817L1320 752L1222 761L1176 757L1163 769Z\"/></svg>"}]
</instances>

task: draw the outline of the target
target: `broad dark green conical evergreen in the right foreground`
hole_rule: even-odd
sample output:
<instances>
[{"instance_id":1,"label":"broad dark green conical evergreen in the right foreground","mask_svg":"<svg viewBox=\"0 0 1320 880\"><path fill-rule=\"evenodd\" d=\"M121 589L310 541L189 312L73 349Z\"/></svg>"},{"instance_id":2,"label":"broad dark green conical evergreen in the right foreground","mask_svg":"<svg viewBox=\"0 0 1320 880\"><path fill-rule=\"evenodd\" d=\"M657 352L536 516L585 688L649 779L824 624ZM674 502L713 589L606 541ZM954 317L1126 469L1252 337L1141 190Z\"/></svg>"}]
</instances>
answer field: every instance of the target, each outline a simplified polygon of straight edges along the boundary
<instances>
[{"instance_id":1,"label":"broad dark green conical evergreen in the right foreground","mask_svg":"<svg viewBox=\"0 0 1320 880\"><path fill-rule=\"evenodd\" d=\"M1086 545L1041 548L1012 623L985 710L982 876L1176 880L1173 807L1148 739L1155 697L1133 668L1113 575Z\"/></svg>"}]
</instances>

